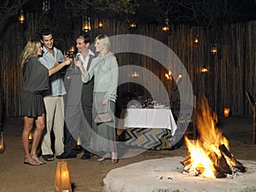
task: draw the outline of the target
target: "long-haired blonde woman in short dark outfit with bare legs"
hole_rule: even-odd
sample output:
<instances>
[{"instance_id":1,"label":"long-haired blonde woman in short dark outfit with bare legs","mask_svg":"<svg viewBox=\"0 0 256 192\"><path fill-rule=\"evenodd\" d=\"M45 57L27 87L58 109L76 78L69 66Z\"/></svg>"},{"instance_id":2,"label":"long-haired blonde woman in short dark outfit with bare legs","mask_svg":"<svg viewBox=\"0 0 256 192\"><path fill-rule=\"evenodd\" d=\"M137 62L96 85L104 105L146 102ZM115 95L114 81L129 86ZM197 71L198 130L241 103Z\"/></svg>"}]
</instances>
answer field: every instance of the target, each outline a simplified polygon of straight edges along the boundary
<instances>
[{"instance_id":1,"label":"long-haired blonde woman in short dark outfit with bare legs","mask_svg":"<svg viewBox=\"0 0 256 192\"><path fill-rule=\"evenodd\" d=\"M38 143L44 130L45 108L42 92L49 89L49 76L69 65L71 60L56 64L49 70L38 61L42 55L42 45L39 40L29 41L20 55L23 81L20 93L19 114L23 116L22 144L24 150L24 164L40 166L44 164L38 160L36 154ZM33 124L36 128L33 134L32 148L29 151L29 133Z\"/></svg>"}]
</instances>

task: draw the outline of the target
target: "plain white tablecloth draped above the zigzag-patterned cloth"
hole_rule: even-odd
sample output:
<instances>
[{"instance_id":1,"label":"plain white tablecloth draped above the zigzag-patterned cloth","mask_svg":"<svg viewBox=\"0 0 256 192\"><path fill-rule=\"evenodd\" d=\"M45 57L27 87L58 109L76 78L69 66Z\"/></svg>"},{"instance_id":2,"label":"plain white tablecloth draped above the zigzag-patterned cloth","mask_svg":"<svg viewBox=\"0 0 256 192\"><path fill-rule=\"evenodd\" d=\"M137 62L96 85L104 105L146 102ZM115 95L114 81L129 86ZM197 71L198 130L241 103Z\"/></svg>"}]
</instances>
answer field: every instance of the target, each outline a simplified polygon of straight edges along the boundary
<instances>
[{"instance_id":1,"label":"plain white tablecloth draped above the zigzag-patterned cloth","mask_svg":"<svg viewBox=\"0 0 256 192\"><path fill-rule=\"evenodd\" d=\"M124 119L125 127L163 128L177 130L171 109L166 108L127 108Z\"/></svg>"}]
</instances>

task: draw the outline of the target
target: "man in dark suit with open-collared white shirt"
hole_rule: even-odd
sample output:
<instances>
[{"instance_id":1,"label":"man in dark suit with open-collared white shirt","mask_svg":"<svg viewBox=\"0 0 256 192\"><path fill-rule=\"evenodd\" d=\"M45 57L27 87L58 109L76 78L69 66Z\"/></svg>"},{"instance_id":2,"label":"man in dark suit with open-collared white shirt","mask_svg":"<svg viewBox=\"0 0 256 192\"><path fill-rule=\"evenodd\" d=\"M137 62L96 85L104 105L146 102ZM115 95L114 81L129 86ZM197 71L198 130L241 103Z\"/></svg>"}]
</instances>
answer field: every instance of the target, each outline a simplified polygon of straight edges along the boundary
<instances>
[{"instance_id":1,"label":"man in dark suit with open-collared white shirt","mask_svg":"<svg viewBox=\"0 0 256 192\"><path fill-rule=\"evenodd\" d=\"M77 157L77 139L81 138L84 147L84 155L82 160L90 159L90 136L92 124L92 96L93 96L93 79L84 84L81 80L81 73L75 62L81 61L84 70L90 67L90 61L95 57L94 53L89 49L90 36L82 33L77 37L78 54L74 62L67 69L64 79L67 95L64 96L65 102L65 121L66 121L66 137L64 145L64 153L56 156L57 159L67 159ZM81 93L81 94L79 94Z\"/></svg>"}]
</instances>

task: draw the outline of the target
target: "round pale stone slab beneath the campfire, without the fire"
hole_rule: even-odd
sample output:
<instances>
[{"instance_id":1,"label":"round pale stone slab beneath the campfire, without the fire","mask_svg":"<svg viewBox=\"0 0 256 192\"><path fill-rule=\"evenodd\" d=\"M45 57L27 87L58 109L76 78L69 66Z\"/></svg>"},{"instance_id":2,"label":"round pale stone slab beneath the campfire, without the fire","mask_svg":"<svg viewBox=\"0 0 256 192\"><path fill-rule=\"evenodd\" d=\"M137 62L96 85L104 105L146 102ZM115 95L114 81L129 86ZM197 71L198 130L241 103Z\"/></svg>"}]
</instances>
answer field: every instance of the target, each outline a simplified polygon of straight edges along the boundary
<instances>
[{"instance_id":1,"label":"round pale stone slab beneath the campfire, without the fire","mask_svg":"<svg viewBox=\"0 0 256 192\"><path fill-rule=\"evenodd\" d=\"M183 157L144 160L119 167L104 178L106 192L255 192L256 161L239 160L247 172L234 177L194 177L183 174Z\"/></svg>"}]
</instances>

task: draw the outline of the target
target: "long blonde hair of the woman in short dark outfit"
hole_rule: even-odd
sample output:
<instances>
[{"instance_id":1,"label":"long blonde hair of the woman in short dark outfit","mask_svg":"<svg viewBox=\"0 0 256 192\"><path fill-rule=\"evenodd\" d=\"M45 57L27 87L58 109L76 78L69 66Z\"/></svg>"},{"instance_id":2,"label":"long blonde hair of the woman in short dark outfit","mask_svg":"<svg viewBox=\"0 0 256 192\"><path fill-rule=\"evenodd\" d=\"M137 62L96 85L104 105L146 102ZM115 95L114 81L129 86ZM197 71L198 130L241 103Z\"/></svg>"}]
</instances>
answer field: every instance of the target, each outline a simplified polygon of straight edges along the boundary
<instances>
[{"instance_id":1,"label":"long blonde hair of the woman in short dark outfit","mask_svg":"<svg viewBox=\"0 0 256 192\"><path fill-rule=\"evenodd\" d=\"M20 66L24 67L24 63L28 61L32 57L38 56L38 49L41 46L41 42L39 40L30 40L27 42L25 48L22 50L20 54Z\"/></svg>"}]
</instances>

